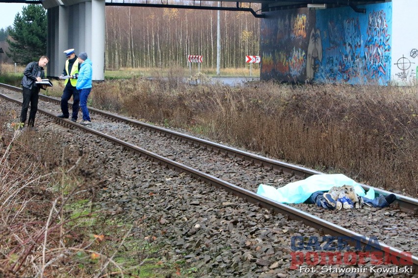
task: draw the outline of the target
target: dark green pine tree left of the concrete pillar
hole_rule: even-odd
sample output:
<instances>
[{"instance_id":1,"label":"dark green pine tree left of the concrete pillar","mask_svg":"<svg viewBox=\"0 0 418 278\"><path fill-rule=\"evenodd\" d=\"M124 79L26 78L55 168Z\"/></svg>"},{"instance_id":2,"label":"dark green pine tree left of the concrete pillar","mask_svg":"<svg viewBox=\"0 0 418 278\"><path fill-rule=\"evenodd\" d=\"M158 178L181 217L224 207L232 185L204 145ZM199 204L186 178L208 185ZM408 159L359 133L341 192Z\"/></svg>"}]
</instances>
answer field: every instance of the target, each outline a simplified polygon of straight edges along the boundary
<instances>
[{"instance_id":1,"label":"dark green pine tree left of the concrete pillar","mask_svg":"<svg viewBox=\"0 0 418 278\"><path fill-rule=\"evenodd\" d=\"M29 4L22 9L22 16L17 13L13 27L8 27L11 40L8 56L13 61L26 65L38 61L47 52L47 14L39 4Z\"/></svg>"}]
</instances>

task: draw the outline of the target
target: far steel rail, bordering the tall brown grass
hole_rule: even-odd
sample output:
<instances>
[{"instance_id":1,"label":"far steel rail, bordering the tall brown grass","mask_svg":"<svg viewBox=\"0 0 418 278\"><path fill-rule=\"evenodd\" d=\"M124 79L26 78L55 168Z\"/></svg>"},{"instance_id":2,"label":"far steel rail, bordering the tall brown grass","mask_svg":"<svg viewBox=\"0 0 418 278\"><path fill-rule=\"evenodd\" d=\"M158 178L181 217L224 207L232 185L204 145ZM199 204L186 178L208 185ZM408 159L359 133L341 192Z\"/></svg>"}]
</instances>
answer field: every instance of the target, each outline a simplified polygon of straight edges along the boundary
<instances>
[{"instance_id":1,"label":"far steel rail, bordering the tall brown grass","mask_svg":"<svg viewBox=\"0 0 418 278\"><path fill-rule=\"evenodd\" d=\"M0 83L0 85L4 88L7 88L9 90L13 90L16 92L21 92L22 89L18 88L18 87L14 87L14 86L10 86L7 84L2 84ZM50 96L46 96L43 94L40 94L39 97L41 99L46 99L49 102L55 102L55 103L60 103L59 99L50 97ZM69 103L70 105L71 103ZM138 127L140 129L145 128L151 132L155 132L158 133L162 136L168 137L168 138L177 138L180 141L185 141L189 144L194 144L197 146L203 146L209 150L215 151L218 154L222 154L225 156L231 156L231 157L235 157L235 158L239 158L241 160L245 160L248 162L251 162L252 164L256 164L256 165L260 165L266 168L269 168L271 170L276 171L278 174L287 174L287 175L294 175L300 179L305 179L307 177L310 177L312 175L317 175L317 174L324 174L322 172L319 171L315 171L313 169L309 169L309 168L305 168L305 167L301 167L301 166L297 166L297 165L293 165L293 164L289 164L286 162L282 162L282 161L277 161L277 160L273 160L273 159L269 159L266 157L262 157L256 154L252 154L246 151L242 151L236 148L232 148L229 146L225 146L225 145L221 145L209 140L205 140L205 139L201 139L201 138L197 138L197 137L193 137L190 135L186 135L186 134L182 134L180 132L176 132L173 130L169 130L163 127L158 127L155 125L151 125L151 124L147 124L144 122L140 122L137 120L133 120L131 118L127 118L127 117L123 117L123 116L119 116L119 115L115 115L112 113L108 113L99 109L95 109L95 108L91 108L89 107L89 111L93 112L93 113L97 113L99 115L102 115L106 118L113 118L117 121L124 121L124 122L128 122L130 125ZM379 195L384 195L387 196L389 194L394 194L396 196L396 201L393 203L393 206L395 208L399 208L402 211L407 211L407 212L412 212L415 215L418 215L418 200L417 199L413 199L411 197L407 197L404 195L400 195L400 194L396 194L387 190L383 190L383 189L379 189L379 188L375 188L369 185L364 185L364 184L360 184L363 189L365 189L365 191L370 190L370 188L373 188L375 193L379 194Z\"/></svg>"}]
</instances>

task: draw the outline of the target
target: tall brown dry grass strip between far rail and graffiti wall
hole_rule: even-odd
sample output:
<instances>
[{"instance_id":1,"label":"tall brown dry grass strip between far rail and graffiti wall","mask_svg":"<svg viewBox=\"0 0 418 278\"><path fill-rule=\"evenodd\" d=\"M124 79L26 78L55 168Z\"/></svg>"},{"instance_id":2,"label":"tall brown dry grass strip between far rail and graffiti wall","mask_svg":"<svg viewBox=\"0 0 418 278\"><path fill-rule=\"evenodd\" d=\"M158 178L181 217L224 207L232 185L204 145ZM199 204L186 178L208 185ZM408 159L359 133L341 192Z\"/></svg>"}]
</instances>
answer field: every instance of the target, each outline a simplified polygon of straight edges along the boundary
<instances>
[{"instance_id":1,"label":"tall brown dry grass strip between far rail and graffiti wall","mask_svg":"<svg viewBox=\"0 0 418 278\"><path fill-rule=\"evenodd\" d=\"M103 83L95 105L417 196L417 87ZM100 92L100 93L99 93Z\"/></svg>"}]
</instances>

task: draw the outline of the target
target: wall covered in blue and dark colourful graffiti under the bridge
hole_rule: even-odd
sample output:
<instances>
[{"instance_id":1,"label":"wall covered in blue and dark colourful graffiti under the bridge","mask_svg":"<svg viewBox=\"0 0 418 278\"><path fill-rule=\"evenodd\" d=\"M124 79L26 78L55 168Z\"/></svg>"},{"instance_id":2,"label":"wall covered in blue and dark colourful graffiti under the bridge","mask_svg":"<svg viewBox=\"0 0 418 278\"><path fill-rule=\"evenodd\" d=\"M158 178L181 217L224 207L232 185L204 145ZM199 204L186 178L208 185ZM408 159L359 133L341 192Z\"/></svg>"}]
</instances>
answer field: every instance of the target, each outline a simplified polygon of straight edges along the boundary
<instances>
[{"instance_id":1,"label":"wall covered in blue and dark colourful graffiti under the bridge","mask_svg":"<svg viewBox=\"0 0 418 278\"><path fill-rule=\"evenodd\" d=\"M268 13L261 23L261 79L387 84L392 3Z\"/></svg>"}]
</instances>

